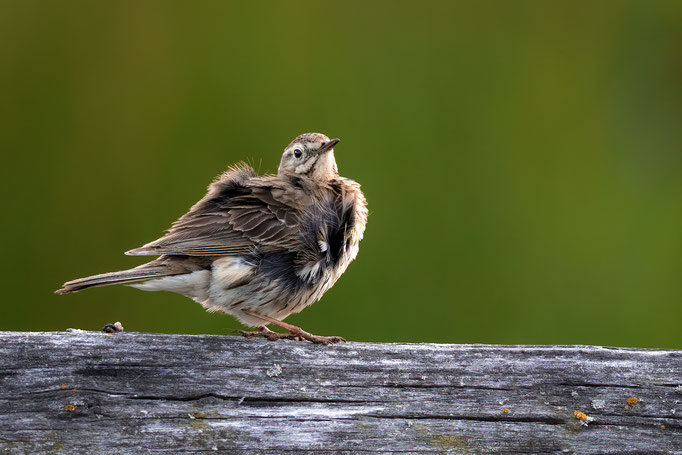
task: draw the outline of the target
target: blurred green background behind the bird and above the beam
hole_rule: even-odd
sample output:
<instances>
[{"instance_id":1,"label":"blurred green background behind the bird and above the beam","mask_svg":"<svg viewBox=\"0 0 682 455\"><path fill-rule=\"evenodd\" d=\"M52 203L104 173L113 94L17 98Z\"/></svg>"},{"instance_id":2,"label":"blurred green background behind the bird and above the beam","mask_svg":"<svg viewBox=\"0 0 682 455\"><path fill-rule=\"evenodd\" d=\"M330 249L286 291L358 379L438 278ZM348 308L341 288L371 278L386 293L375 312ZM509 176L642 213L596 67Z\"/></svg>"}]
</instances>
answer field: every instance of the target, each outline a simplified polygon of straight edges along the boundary
<instances>
[{"instance_id":1,"label":"blurred green background behind the bird and above the beam","mask_svg":"<svg viewBox=\"0 0 682 455\"><path fill-rule=\"evenodd\" d=\"M0 3L1 330L227 334L129 268L238 160L340 137L349 340L682 348L682 2Z\"/></svg>"}]
</instances>

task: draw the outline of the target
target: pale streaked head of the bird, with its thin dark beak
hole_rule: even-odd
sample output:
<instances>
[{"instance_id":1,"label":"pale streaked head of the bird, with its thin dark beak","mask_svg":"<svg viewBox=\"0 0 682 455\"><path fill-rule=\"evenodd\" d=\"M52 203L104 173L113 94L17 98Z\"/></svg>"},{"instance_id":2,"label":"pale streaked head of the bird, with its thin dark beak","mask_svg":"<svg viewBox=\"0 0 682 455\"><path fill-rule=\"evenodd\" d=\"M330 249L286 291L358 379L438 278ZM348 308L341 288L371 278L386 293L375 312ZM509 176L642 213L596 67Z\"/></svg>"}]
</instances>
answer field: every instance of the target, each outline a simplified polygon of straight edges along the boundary
<instances>
[{"instance_id":1,"label":"pale streaked head of the bird, with its thin dark beak","mask_svg":"<svg viewBox=\"0 0 682 455\"><path fill-rule=\"evenodd\" d=\"M334 146L339 139L329 139L320 133L305 133L284 149L279 163L279 175L328 181L339 175L334 159Z\"/></svg>"}]
</instances>

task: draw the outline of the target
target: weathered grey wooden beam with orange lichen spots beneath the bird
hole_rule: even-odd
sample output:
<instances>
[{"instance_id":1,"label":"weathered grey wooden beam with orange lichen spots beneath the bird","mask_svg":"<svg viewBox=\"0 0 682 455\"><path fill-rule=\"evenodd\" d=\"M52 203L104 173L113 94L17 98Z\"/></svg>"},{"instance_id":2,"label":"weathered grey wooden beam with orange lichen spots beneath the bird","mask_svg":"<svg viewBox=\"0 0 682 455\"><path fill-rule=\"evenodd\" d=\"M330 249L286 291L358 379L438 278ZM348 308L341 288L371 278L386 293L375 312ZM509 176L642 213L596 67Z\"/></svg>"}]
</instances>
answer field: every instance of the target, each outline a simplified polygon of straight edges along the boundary
<instances>
[{"instance_id":1,"label":"weathered grey wooden beam with orange lichen spots beneath the bird","mask_svg":"<svg viewBox=\"0 0 682 455\"><path fill-rule=\"evenodd\" d=\"M5 332L0 453L682 454L681 385L682 351Z\"/></svg>"}]
</instances>

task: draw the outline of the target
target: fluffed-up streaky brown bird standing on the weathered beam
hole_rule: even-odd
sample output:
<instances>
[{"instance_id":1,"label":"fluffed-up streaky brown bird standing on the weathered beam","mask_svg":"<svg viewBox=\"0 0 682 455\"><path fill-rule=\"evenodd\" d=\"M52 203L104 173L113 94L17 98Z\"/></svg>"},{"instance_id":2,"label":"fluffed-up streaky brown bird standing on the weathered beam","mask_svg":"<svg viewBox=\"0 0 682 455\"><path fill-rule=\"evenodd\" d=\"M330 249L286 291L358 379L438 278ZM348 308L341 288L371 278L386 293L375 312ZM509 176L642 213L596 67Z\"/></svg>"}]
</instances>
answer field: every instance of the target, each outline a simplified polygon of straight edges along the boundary
<instances>
[{"instance_id":1,"label":"fluffed-up streaky brown bird standing on the weathered beam","mask_svg":"<svg viewBox=\"0 0 682 455\"><path fill-rule=\"evenodd\" d=\"M284 149L277 174L260 176L244 162L229 166L165 235L125 252L156 259L68 281L55 292L121 283L171 291L256 328L240 330L249 338L345 341L283 321L334 285L364 235L367 201L357 182L339 175L338 143L321 133L297 136Z\"/></svg>"}]
</instances>

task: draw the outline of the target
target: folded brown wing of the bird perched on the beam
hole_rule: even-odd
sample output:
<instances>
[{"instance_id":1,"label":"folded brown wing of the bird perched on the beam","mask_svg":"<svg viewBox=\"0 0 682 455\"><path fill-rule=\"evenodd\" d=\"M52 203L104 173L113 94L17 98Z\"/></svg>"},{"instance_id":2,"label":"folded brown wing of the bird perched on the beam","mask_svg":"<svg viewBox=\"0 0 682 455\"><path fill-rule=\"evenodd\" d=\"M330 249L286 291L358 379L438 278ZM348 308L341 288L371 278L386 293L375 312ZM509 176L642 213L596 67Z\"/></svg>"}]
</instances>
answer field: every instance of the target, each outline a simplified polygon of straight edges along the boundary
<instances>
[{"instance_id":1,"label":"folded brown wing of the bird perched on the beam","mask_svg":"<svg viewBox=\"0 0 682 455\"><path fill-rule=\"evenodd\" d=\"M126 254L220 256L291 247L299 210L285 188L277 177L257 177L248 166L232 168L165 236Z\"/></svg>"}]
</instances>

